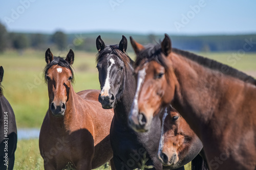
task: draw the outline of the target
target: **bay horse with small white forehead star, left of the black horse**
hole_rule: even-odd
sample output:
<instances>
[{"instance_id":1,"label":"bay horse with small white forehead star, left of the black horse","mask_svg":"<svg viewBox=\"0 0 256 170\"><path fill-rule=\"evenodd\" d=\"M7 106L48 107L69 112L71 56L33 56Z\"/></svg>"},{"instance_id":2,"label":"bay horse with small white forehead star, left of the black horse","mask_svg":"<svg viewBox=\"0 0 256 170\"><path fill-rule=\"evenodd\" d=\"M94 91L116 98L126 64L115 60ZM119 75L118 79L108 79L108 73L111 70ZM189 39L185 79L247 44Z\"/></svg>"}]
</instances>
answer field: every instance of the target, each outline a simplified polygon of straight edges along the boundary
<instances>
[{"instance_id":1,"label":"bay horse with small white forehead star, left of the black horse","mask_svg":"<svg viewBox=\"0 0 256 170\"><path fill-rule=\"evenodd\" d=\"M72 50L66 59L46 51L49 109L39 135L45 169L62 169L71 162L76 169L90 170L113 157L109 138L113 110L102 109L99 90L75 93L73 62Z\"/></svg>"}]
</instances>

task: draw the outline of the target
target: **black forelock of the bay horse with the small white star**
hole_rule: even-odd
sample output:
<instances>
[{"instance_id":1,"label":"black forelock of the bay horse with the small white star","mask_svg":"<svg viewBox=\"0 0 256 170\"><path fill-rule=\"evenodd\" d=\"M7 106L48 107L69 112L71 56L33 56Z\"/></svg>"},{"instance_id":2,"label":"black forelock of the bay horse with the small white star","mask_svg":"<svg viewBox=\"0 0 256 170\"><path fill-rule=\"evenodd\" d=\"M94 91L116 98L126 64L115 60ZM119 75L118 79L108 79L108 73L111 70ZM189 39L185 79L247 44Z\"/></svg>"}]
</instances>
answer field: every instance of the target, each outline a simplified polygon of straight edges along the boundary
<instances>
[{"instance_id":1,"label":"black forelock of the bay horse with the small white star","mask_svg":"<svg viewBox=\"0 0 256 170\"><path fill-rule=\"evenodd\" d=\"M74 72L73 72L73 69L70 65L70 63L68 61L66 61L65 59L63 59L62 57L53 57L53 60L47 64L44 68L44 77L45 77L45 81L47 82L47 72L49 70L49 68L51 68L53 65L59 65L61 67L66 67L68 69L70 69L71 73L72 73L72 77L73 79L71 80L71 82L73 83L74 82Z\"/></svg>"}]
</instances>

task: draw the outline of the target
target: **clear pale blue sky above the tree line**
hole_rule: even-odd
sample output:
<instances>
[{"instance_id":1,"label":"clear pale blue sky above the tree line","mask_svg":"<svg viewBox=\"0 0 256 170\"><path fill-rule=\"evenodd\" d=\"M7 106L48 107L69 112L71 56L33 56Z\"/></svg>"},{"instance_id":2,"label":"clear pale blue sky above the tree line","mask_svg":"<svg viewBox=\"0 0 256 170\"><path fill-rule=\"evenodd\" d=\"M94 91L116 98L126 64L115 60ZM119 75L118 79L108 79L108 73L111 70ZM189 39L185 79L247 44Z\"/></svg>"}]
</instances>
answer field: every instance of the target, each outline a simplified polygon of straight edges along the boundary
<instances>
[{"instance_id":1,"label":"clear pale blue sky above the tree line","mask_svg":"<svg viewBox=\"0 0 256 170\"><path fill-rule=\"evenodd\" d=\"M256 33L254 0L2 0L0 11L15 32Z\"/></svg>"}]
</instances>

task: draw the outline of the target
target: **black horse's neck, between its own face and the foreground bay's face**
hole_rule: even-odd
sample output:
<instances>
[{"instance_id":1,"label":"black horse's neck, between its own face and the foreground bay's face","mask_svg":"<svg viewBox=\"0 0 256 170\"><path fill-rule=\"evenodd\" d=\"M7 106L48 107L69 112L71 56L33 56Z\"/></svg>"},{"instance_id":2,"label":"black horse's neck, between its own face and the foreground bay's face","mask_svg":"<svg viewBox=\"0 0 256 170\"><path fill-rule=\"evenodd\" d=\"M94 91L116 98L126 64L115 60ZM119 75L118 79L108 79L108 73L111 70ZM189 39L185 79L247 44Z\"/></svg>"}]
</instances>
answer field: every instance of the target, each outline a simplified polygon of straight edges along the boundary
<instances>
[{"instance_id":1,"label":"black horse's neck, between its own face and the foreground bay's face","mask_svg":"<svg viewBox=\"0 0 256 170\"><path fill-rule=\"evenodd\" d=\"M125 75L125 80L124 80L123 89L122 89L122 96L120 100L117 101L116 107L114 109L115 120L118 120L122 123L127 122L127 117L131 110L135 91L136 91L136 81L134 76L132 75L132 70L129 69L127 70Z\"/></svg>"}]
</instances>

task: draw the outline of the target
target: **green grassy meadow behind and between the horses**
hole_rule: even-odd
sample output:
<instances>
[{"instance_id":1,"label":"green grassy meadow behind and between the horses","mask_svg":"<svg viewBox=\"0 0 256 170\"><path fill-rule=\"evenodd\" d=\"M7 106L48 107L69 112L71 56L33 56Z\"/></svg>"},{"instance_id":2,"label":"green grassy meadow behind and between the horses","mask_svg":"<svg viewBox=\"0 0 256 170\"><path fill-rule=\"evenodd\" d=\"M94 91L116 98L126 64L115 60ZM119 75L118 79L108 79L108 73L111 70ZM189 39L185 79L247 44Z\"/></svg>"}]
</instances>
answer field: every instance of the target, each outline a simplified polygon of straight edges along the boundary
<instances>
[{"instance_id":1,"label":"green grassy meadow behind and between the horses","mask_svg":"<svg viewBox=\"0 0 256 170\"><path fill-rule=\"evenodd\" d=\"M52 50L52 53L59 55L57 50ZM68 51L60 56L66 57L67 53ZM231 65L256 77L256 53L240 56L237 52L197 54ZM96 53L75 51L75 91L100 88L95 55ZM134 53L130 56L135 57ZM2 82L4 95L14 110L17 128L40 128L49 102L47 85L42 76L42 69L46 65L45 51L27 50L22 56L17 52L7 51L0 54L0 65L5 70ZM18 140L15 157L14 169L44 169L38 139Z\"/></svg>"}]
</instances>

